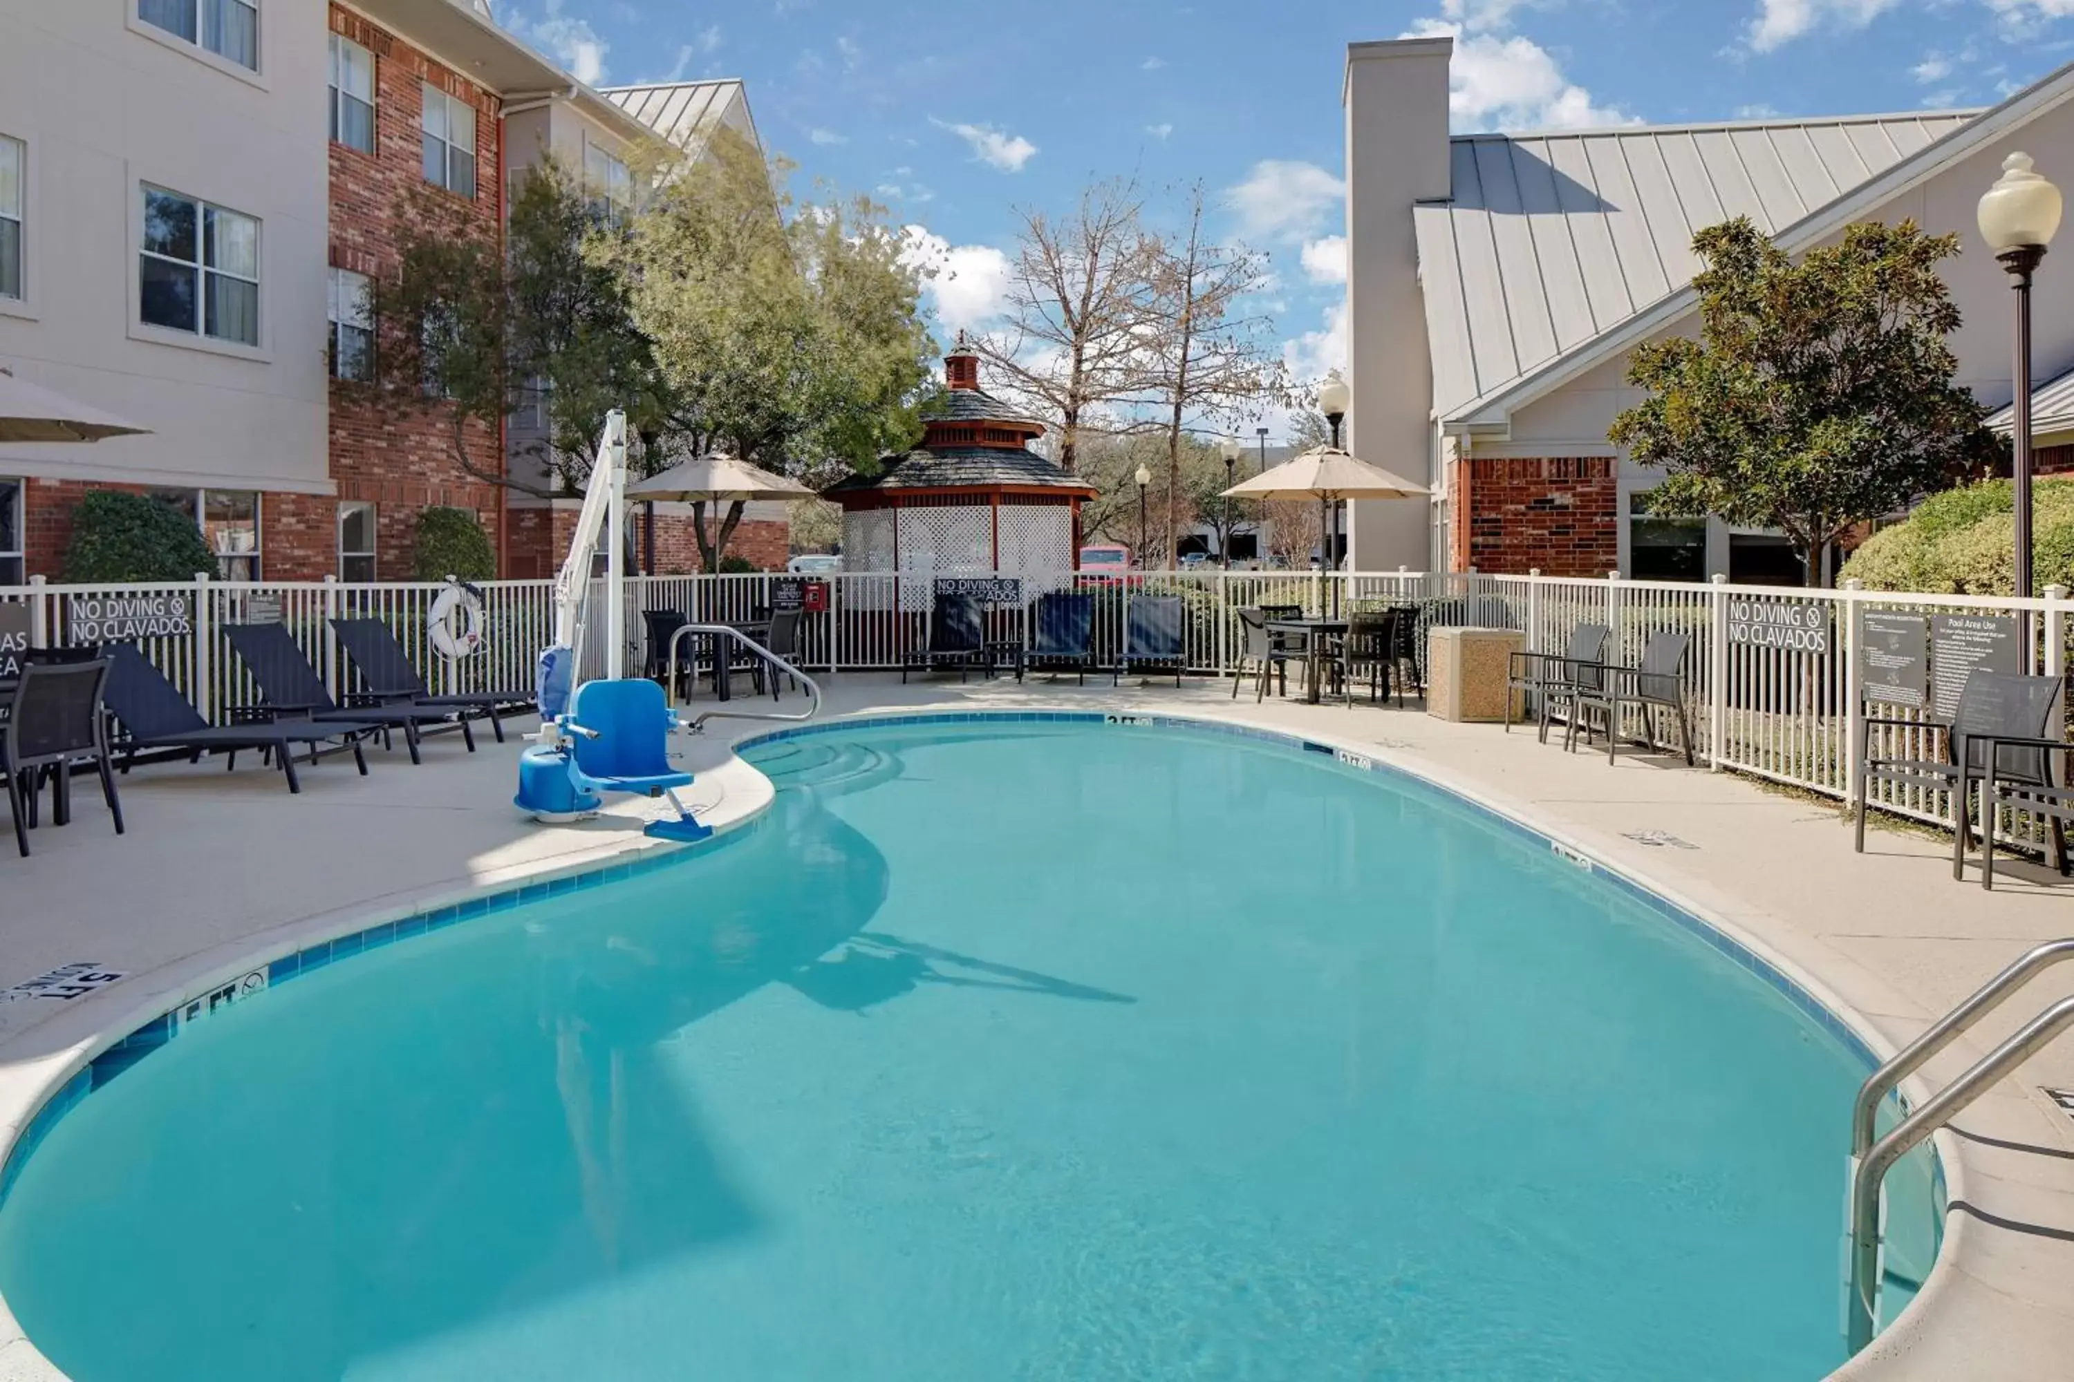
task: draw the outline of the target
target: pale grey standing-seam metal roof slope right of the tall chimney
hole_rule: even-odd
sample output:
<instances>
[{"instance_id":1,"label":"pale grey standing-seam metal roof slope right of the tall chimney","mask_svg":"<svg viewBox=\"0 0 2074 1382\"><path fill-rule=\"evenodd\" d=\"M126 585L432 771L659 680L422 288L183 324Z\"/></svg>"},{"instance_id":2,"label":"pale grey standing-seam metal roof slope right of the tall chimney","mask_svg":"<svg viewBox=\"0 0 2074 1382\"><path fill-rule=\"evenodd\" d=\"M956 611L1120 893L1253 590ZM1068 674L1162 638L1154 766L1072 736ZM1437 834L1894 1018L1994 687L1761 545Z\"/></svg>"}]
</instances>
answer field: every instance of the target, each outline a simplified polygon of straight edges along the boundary
<instances>
[{"instance_id":1,"label":"pale grey standing-seam metal roof slope right of the tall chimney","mask_svg":"<svg viewBox=\"0 0 2074 1382\"><path fill-rule=\"evenodd\" d=\"M1412 207L1435 416L1690 284L1697 230L1777 234L1977 114L1452 139L1454 197Z\"/></svg>"}]
</instances>

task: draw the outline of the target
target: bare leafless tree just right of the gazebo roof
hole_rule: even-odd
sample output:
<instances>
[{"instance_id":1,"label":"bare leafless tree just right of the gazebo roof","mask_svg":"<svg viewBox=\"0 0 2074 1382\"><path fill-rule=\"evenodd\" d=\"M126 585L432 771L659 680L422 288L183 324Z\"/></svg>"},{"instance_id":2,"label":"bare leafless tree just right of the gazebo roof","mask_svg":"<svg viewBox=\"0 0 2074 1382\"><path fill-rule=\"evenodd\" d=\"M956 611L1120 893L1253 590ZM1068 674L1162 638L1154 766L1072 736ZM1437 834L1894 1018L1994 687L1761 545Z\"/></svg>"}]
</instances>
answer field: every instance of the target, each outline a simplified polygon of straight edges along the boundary
<instances>
[{"instance_id":1,"label":"bare leafless tree just right of the gazebo roof","mask_svg":"<svg viewBox=\"0 0 2074 1382\"><path fill-rule=\"evenodd\" d=\"M1157 253L1139 226L1143 207L1134 180L1112 178L1085 189L1068 215L1018 209L1012 321L975 344L1004 392L1058 423L1068 474L1095 414L1145 392Z\"/></svg>"}]
</instances>

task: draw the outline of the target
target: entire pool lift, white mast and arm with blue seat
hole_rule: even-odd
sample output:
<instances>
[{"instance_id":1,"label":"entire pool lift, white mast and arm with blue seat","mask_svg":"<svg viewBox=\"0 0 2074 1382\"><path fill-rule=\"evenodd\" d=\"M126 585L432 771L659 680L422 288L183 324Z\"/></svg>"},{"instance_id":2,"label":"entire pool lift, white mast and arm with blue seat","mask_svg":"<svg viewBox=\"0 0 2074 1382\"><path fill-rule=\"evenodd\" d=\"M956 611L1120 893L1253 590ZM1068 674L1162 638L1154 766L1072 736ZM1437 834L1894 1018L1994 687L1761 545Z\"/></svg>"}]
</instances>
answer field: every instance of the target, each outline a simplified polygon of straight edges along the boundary
<instances>
[{"instance_id":1,"label":"entire pool lift, white mast and arm with blue seat","mask_svg":"<svg viewBox=\"0 0 2074 1382\"><path fill-rule=\"evenodd\" d=\"M676 789L691 773L670 765L670 731L680 729L662 688L647 678L626 678L626 414L606 414L591 483L577 514L568 559L554 578L554 642L535 667L539 698L537 742L518 756L516 806L535 820L579 820L597 812L601 794L666 796L676 818L653 820L647 835L693 841L711 827L693 818ZM606 543L606 675L577 686L583 657L583 597L599 537ZM577 715L589 717L583 723Z\"/></svg>"}]
</instances>

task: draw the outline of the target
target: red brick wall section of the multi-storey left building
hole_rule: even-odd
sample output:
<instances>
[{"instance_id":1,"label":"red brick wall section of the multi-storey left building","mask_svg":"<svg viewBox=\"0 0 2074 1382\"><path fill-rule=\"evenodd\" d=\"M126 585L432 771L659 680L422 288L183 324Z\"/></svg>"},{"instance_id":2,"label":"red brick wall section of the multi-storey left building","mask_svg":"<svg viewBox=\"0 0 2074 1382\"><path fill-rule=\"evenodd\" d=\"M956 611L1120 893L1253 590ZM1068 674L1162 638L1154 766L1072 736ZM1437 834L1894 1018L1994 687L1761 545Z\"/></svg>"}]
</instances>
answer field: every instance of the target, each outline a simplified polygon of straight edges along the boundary
<instances>
[{"instance_id":1,"label":"red brick wall section of the multi-storey left building","mask_svg":"<svg viewBox=\"0 0 2074 1382\"><path fill-rule=\"evenodd\" d=\"M334 143L332 160L332 267L369 278L396 271L407 220L433 218L433 228L456 238L502 244L504 157L500 102L458 73L448 70L404 39L359 15L332 8L332 29L375 56L375 151ZM425 182L421 118L425 83L475 108L475 197L460 197ZM332 385L332 479L340 501L375 506L375 576L407 580L417 543L417 516L429 506L475 510L500 545L504 487L483 479L502 474L504 441L498 427L469 421L456 456L452 414L444 408L396 408L371 402L351 387ZM338 570L336 506L326 539L326 570Z\"/></svg>"}]
</instances>

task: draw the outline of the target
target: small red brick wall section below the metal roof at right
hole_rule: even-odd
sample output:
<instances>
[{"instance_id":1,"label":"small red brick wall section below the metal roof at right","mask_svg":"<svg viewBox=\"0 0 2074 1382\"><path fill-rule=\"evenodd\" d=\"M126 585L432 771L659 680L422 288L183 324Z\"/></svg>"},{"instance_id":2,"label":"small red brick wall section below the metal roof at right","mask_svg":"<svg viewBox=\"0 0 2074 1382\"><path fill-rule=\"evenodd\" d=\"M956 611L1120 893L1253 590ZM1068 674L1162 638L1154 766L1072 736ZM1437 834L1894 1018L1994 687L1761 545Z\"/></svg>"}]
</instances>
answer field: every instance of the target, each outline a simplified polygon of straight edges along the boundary
<instances>
[{"instance_id":1,"label":"small red brick wall section below the metal roof at right","mask_svg":"<svg viewBox=\"0 0 2074 1382\"><path fill-rule=\"evenodd\" d=\"M1618 464L1611 456L1458 460L1456 570L1605 576L1620 566Z\"/></svg>"}]
</instances>

